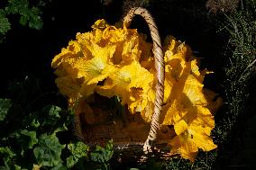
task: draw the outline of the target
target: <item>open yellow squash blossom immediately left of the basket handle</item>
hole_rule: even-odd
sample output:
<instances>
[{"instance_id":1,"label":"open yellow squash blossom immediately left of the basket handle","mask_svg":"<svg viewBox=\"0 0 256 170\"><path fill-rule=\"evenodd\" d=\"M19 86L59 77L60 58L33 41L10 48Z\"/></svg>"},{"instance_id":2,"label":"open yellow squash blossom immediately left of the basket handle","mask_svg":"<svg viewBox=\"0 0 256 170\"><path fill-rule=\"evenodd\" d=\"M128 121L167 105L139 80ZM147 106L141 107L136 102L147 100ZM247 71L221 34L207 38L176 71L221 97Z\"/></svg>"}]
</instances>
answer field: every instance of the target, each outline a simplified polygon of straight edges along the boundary
<instances>
[{"instance_id":1,"label":"open yellow squash blossom immediately left of the basket handle","mask_svg":"<svg viewBox=\"0 0 256 170\"><path fill-rule=\"evenodd\" d=\"M131 112L144 110L153 84L153 75L139 62L133 61L131 65L121 67L110 75L105 85L96 88L98 94L106 97L118 95L122 104L128 104Z\"/></svg>"}]
</instances>

